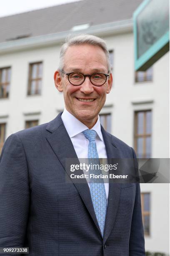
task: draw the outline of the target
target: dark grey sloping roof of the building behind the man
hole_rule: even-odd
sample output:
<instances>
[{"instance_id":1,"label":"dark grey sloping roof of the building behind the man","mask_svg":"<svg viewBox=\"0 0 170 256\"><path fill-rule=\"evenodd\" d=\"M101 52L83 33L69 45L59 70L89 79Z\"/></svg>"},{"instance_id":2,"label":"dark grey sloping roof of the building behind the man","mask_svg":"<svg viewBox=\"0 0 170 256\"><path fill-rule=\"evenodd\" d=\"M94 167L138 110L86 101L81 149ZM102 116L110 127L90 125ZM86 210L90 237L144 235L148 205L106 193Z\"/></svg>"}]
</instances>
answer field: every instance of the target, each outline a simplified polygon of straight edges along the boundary
<instances>
[{"instance_id":1,"label":"dark grey sloping roof of the building behind the man","mask_svg":"<svg viewBox=\"0 0 170 256\"><path fill-rule=\"evenodd\" d=\"M82 0L0 18L0 42L132 18L143 0ZM83 31L82 31L83 33Z\"/></svg>"}]
</instances>

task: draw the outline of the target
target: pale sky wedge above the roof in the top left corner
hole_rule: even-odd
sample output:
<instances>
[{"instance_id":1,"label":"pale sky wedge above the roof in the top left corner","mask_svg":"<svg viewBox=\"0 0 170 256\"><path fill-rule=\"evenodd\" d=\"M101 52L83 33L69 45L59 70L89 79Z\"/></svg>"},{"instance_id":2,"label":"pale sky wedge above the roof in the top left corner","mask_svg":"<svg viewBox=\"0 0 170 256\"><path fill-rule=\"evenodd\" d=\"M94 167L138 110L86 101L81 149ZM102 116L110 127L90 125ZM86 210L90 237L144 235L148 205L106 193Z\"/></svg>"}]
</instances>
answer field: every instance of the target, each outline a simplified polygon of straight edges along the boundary
<instances>
[{"instance_id":1,"label":"pale sky wedge above the roof in the top left corner","mask_svg":"<svg viewBox=\"0 0 170 256\"><path fill-rule=\"evenodd\" d=\"M0 17L76 1L77 0L2 0L0 5Z\"/></svg>"}]
</instances>

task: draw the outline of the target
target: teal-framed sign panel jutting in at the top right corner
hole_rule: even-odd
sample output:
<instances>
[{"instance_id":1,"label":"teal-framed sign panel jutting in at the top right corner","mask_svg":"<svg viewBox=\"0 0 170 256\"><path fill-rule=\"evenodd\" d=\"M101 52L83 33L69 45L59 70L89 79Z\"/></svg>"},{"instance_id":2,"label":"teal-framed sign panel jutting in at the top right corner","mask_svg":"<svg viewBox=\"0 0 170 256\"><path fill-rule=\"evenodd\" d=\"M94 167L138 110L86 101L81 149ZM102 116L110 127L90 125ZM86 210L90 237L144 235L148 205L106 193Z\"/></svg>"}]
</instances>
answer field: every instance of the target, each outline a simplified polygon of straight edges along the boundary
<instances>
[{"instance_id":1,"label":"teal-framed sign panel jutting in at the top right corner","mask_svg":"<svg viewBox=\"0 0 170 256\"><path fill-rule=\"evenodd\" d=\"M169 0L144 0L133 13L135 70L145 71L169 51Z\"/></svg>"}]
</instances>

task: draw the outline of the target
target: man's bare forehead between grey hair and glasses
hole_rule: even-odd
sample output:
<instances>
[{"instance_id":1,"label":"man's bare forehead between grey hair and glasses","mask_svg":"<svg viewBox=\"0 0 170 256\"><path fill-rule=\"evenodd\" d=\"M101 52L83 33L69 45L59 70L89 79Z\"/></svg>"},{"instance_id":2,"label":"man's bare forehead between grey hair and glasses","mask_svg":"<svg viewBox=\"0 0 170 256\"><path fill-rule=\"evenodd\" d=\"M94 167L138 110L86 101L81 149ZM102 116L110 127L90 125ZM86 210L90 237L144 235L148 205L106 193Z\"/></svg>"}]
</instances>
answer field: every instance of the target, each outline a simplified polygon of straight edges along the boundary
<instances>
[{"instance_id":1,"label":"man's bare forehead between grey hair and glasses","mask_svg":"<svg viewBox=\"0 0 170 256\"><path fill-rule=\"evenodd\" d=\"M64 56L64 67L107 69L105 52L100 46L80 44L69 46Z\"/></svg>"}]
</instances>

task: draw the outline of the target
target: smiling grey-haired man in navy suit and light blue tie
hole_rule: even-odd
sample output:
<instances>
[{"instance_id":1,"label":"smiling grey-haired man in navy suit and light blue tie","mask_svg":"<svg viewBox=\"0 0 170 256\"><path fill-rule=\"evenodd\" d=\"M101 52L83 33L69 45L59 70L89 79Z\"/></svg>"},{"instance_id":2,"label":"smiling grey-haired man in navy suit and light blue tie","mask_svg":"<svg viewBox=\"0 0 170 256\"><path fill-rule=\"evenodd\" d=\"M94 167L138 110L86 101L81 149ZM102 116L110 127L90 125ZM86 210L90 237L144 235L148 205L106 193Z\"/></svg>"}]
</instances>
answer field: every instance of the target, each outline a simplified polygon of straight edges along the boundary
<instances>
[{"instance_id":1,"label":"smiling grey-haired man in navy suit and light blue tie","mask_svg":"<svg viewBox=\"0 0 170 256\"><path fill-rule=\"evenodd\" d=\"M66 182L67 159L135 159L100 126L112 87L105 41L68 39L54 79L64 112L11 135L2 150L0 247L27 246L32 256L144 256L139 184Z\"/></svg>"}]
</instances>

